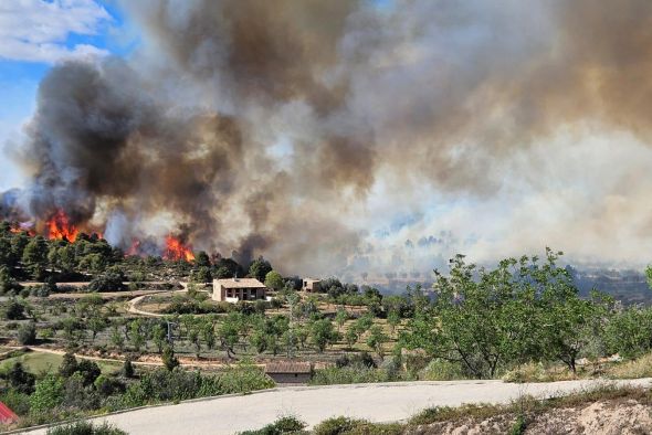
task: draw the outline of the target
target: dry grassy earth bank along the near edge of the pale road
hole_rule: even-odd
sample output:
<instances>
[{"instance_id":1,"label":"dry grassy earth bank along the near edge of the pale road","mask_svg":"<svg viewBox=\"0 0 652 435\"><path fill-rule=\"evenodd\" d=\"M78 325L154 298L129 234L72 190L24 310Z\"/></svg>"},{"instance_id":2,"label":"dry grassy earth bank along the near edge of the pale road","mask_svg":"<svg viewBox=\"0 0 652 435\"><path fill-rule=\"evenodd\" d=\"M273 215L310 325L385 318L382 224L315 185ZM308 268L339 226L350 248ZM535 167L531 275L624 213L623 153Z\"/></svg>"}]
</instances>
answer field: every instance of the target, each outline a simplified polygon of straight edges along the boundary
<instances>
[{"instance_id":1,"label":"dry grassy earth bank along the near edge of the pale road","mask_svg":"<svg viewBox=\"0 0 652 435\"><path fill-rule=\"evenodd\" d=\"M402 423L372 423L361 418L335 416L307 429L307 424L301 420L301 416L291 415L283 416L257 431L242 432L241 435L422 435L466 432L519 435L541 433L543 428L558 429L559 433L583 433L582 431L587 429L586 426L591 422L576 422L572 414L581 414L583 410L596 404L603 406L606 413L616 411L613 412L616 415L589 413L593 414L595 423L601 428L616 426L617 429L629 429L628 433L649 431L646 426L649 421L637 421L635 414L620 415L618 410L641 406L643 412L646 412L652 406L652 393L646 389L617 388L606 384L561 397L540 400L524 395L503 405L467 404L458 407L428 407ZM560 415L565 418L560 420ZM555 425L564 427L554 427Z\"/></svg>"}]
</instances>

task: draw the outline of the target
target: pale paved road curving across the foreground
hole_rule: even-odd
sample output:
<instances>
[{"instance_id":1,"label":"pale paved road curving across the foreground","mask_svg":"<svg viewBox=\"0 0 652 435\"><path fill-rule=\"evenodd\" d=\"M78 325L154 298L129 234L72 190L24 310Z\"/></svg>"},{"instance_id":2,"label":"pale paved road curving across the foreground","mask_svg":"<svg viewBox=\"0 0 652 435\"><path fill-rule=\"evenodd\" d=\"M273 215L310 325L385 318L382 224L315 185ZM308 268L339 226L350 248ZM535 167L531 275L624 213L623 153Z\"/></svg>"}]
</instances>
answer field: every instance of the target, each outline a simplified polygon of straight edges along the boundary
<instances>
[{"instance_id":1,"label":"pale paved road curving across the foreground","mask_svg":"<svg viewBox=\"0 0 652 435\"><path fill-rule=\"evenodd\" d=\"M391 422L408 418L428 406L504 403L523 394L538 397L562 395L595 388L600 383L601 381L535 384L450 381L287 388L148 407L99 417L97 421L106 420L130 435L234 434L262 427L287 414L296 415L309 425L339 415ZM652 379L619 381L618 384L652 386ZM45 429L30 434L45 434Z\"/></svg>"}]
</instances>

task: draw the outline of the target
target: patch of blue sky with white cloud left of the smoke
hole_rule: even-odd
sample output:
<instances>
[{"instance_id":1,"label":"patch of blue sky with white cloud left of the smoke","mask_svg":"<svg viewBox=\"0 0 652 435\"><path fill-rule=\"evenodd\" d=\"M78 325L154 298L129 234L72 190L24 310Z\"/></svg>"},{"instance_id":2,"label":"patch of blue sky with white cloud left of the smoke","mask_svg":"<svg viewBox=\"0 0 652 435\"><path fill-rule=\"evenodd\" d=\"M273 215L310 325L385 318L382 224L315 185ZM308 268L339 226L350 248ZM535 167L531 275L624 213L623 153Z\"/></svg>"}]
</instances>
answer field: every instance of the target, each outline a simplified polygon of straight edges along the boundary
<instances>
[{"instance_id":1,"label":"patch of blue sky with white cloud left of the smoke","mask_svg":"<svg viewBox=\"0 0 652 435\"><path fill-rule=\"evenodd\" d=\"M25 183L20 169L9 163L10 148L23 138L48 71L71 57L126 56L137 43L112 1L0 2L0 156L8 162L0 171L0 191Z\"/></svg>"}]
</instances>

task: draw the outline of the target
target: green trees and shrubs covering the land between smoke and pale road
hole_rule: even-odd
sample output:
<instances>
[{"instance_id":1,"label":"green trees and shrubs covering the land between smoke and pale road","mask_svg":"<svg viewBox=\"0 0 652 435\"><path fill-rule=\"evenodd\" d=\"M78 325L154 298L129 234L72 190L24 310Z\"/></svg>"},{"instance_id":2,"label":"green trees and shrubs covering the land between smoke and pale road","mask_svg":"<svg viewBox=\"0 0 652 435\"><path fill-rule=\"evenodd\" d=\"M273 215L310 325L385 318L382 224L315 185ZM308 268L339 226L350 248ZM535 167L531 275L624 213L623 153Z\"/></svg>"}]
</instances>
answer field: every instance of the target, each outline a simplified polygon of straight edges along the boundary
<instances>
[{"instance_id":1,"label":"green trees and shrubs covering the land between smoke and pale road","mask_svg":"<svg viewBox=\"0 0 652 435\"><path fill-rule=\"evenodd\" d=\"M4 223L6 342L71 353L3 354L0 396L24 424L34 424L269 388L270 379L253 365L215 368L281 358L323 363L312 384L650 375L652 308L623 306L598 291L580 294L571 269L557 265L560 255L547 250L545 258L506 258L495 268L456 256L450 270L435 270L432 289L407 287L401 295L337 278L323 279L319 294L307 294L299 291L301 279L283 277L263 257L248 265L203 252L192 262L141 258L125 256L96 235L46 241ZM234 276L264 282L272 300L212 300L203 283ZM19 284L34 279L33 286ZM88 284L56 284L64 279ZM180 279L190 282L188 291L151 283ZM161 317L127 311L130 291L145 288L164 290L138 301ZM73 352L116 363L77 360ZM132 364L139 359L159 368ZM183 370L189 363L202 371Z\"/></svg>"}]
</instances>

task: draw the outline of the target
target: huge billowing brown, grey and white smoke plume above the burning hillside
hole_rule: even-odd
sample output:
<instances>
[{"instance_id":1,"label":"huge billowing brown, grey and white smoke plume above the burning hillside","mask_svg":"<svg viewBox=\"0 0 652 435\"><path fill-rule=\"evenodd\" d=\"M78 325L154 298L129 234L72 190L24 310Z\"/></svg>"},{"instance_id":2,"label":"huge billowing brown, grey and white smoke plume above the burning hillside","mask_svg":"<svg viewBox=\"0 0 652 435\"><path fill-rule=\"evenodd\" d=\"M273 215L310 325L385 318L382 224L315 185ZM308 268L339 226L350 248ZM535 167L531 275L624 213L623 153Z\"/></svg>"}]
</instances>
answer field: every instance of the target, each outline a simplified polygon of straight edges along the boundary
<instances>
[{"instance_id":1,"label":"huge billowing brown, grey and white smoke plume above the burning hillside","mask_svg":"<svg viewBox=\"0 0 652 435\"><path fill-rule=\"evenodd\" d=\"M586 257L652 187L645 174L630 198L627 163L607 182L580 173L598 163L566 158L625 135L613 148L652 162L646 0L123 6L143 46L55 66L21 153L32 215L63 209L123 247L182 233L196 248L264 254L297 273L420 267L414 250L431 263L455 251L487 259L512 254L494 252L505 241L559 241ZM566 177L583 187L583 209ZM619 194L620 209L602 202ZM475 212L437 210L452 198ZM503 200L511 219L483 223ZM635 209L632 240L652 217ZM383 217L400 222L385 234Z\"/></svg>"}]
</instances>

